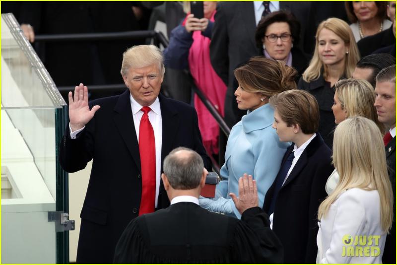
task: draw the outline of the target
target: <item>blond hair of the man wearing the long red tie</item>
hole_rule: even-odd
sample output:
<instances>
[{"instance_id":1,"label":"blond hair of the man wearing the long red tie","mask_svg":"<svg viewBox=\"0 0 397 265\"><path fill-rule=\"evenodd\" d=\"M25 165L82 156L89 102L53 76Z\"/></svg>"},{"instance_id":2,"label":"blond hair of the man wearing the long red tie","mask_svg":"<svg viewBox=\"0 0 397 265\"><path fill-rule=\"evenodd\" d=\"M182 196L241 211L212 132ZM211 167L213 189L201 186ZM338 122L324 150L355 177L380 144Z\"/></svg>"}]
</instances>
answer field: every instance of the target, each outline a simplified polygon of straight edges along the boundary
<instances>
[{"instance_id":1,"label":"blond hair of the man wearing the long red tie","mask_svg":"<svg viewBox=\"0 0 397 265\"><path fill-rule=\"evenodd\" d=\"M154 45L136 45L127 49L123 53L123 63L120 73L126 76L128 70L133 68L142 68L151 65L158 65L161 75L164 75L165 68L163 65L163 53Z\"/></svg>"}]
</instances>

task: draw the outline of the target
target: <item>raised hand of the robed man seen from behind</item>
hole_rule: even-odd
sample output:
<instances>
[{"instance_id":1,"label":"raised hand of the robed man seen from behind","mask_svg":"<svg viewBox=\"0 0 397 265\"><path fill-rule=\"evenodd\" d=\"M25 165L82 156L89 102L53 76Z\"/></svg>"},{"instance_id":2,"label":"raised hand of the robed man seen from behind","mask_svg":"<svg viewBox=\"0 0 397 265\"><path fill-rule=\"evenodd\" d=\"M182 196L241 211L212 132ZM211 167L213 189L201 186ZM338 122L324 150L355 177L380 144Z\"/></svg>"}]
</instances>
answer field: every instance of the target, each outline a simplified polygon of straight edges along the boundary
<instances>
[{"instance_id":1,"label":"raised hand of the robed man seen from behind","mask_svg":"<svg viewBox=\"0 0 397 265\"><path fill-rule=\"evenodd\" d=\"M230 193L229 196L233 199L240 214L243 214L245 210L258 206L257 182L252 179L251 175L244 174L239 179L239 197L234 193Z\"/></svg>"}]
</instances>

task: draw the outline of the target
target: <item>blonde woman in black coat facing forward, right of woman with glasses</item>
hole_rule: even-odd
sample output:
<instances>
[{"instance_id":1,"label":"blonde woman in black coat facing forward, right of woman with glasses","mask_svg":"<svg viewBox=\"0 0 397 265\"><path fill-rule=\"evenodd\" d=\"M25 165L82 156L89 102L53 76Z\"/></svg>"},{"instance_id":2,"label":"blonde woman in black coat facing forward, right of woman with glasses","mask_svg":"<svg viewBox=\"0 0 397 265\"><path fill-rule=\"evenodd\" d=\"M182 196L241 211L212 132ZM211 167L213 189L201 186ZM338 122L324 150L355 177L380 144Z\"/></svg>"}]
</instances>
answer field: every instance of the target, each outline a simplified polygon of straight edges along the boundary
<instances>
[{"instance_id":1,"label":"blonde woman in black coat facing forward, right of woman with glasses","mask_svg":"<svg viewBox=\"0 0 397 265\"><path fill-rule=\"evenodd\" d=\"M298 89L311 93L319 103L319 133L329 147L332 147L332 114L335 83L339 79L352 77L360 59L357 44L349 25L335 17L320 23L316 33L316 47L308 68L298 83Z\"/></svg>"}]
</instances>

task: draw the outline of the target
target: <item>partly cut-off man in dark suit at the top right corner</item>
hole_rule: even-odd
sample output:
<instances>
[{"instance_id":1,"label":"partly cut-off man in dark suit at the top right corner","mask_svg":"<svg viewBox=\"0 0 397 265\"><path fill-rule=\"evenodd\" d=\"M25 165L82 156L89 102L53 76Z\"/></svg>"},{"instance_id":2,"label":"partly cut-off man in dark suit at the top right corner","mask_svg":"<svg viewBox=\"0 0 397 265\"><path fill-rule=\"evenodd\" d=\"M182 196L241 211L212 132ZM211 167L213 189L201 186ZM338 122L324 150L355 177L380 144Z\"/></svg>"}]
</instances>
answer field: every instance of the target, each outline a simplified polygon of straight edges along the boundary
<instances>
[{"instance_id":1,"label":"partly cut-off man in dark suit at the top right corner","mask_svg":"<svg viewBox=\"0 0 397 265\"><path fill-rule=\"evenodd\" d=\"M387 8L387 14L390 20L396 18L396 2L390 1ZM361 57L372 54L375 50L396 44L396 36L393 33L393 25L389 29L381 31L375 35L365 37L357 42L358 50Z\"/></svg>"}]
</instances>

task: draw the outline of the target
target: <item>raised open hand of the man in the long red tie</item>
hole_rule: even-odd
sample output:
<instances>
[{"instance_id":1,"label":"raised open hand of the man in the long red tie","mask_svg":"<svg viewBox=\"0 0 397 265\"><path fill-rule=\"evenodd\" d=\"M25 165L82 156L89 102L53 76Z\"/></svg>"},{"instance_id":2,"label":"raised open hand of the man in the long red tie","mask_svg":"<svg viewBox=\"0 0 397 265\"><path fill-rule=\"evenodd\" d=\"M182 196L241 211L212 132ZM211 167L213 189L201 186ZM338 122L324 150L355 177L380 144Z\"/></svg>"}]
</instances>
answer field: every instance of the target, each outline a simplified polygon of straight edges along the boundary
<instances>
[{"instance_id":1,"label":"raised open hand of the man in the long red tie","mask_svg":"<svg viewBox=\"0 0 397 265\"><path fill-rule=\"evenodd\" d=\"M91 110L89 109L88 88L81 83L74 88L73 97L71 91L68 96L70 128L74 132L83 128L94 117L100 106L95 105Z\"/></svg>"}]
</instances>

